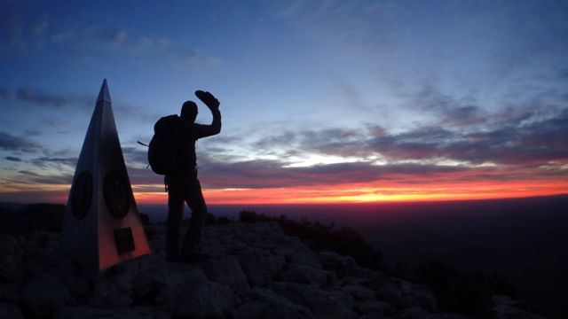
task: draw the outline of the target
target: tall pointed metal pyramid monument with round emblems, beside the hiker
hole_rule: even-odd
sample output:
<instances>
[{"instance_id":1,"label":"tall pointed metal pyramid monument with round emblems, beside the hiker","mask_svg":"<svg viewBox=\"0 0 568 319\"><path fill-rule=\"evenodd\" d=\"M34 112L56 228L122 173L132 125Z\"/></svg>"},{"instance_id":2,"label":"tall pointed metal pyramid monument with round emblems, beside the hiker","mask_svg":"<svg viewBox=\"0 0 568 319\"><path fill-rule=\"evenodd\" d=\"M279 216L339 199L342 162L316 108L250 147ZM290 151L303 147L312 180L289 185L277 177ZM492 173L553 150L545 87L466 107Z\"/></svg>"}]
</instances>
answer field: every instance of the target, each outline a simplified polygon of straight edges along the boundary
<instances>
[{"instance_id":1,"label":"tall pointed metal pyramid monument with round emblems, beside the hiker","mask_svg":"<svg viewBox=\"0 0 568 319\"><path fill-rule=\"evenodd\" d=\"M106 80L92 113L63 220L61 249L87 276L150 253Z\"/></svg>"}]
</instances>

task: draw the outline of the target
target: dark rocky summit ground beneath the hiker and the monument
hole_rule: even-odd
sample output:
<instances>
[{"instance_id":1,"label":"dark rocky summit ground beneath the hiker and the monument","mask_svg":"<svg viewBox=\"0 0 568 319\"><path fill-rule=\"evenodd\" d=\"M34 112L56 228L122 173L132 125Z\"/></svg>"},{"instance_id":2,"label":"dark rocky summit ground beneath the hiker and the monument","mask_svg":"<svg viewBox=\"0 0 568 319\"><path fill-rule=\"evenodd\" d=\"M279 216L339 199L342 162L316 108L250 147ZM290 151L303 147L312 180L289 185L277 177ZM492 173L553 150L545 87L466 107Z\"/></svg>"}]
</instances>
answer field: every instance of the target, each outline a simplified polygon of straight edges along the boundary
<instances>
[{"instance_id":1,"label":"dark rocky summit ground beneath the hiker and the monument","mask_svg":"<svg viewBox=\"0 0 568 319\"><path fill-rule=\"evenodd\" d=\"M201 263L166 262L165 226L146 232L153 254L94 279L59 253L57 232L0 234L0 318L467 318L439 311L428 287L315 252L276 222L206 227ZM493 301L496 318L542 318Z\"/></svg>"}]
</instances>

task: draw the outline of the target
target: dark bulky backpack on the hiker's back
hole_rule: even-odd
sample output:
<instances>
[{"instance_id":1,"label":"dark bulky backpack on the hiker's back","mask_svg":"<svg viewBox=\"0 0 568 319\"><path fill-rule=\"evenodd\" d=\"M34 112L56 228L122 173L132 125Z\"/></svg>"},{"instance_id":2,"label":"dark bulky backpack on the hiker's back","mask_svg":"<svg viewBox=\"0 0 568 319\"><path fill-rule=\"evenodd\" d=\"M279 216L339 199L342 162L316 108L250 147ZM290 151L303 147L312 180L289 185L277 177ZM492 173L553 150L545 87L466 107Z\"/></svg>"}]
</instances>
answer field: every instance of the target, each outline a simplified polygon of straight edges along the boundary
<instances>
[{"instance_id":1,"label":"dark bulky backpack on the hiker's back","mask_svg":"<svg viewBox=\"0 0 568 319\"><path fill-rule=\"evenodd\" d=\"M169 175L176 170L179 125L177 114L164 116L154 124L154 136L148 147L148 163L156 174Z\"/></svg>"}]
</instances>

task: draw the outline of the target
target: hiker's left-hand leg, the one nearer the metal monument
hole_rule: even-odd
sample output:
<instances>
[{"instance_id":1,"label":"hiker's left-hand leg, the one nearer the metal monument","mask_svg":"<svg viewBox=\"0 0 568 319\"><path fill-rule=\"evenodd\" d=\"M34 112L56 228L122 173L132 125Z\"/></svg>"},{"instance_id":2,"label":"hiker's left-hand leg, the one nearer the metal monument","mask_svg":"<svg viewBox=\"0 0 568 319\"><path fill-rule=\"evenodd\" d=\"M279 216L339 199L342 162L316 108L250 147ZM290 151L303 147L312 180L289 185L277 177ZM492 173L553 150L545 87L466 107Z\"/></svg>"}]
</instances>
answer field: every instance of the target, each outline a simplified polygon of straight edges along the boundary
<instances>
[{"instance_id":1,"label":"hiker's left-hand leg, the one nearer the metal monument","mask_svg":"<svg viewBox=\"0 0 568 319\"><path fill-rule=\"evenodd\" d=\"M168 221L166 224L166 260L179 260L179 224L184 216L182 185L170 181L168 185Z\"/></svg>"}]
</instances>

